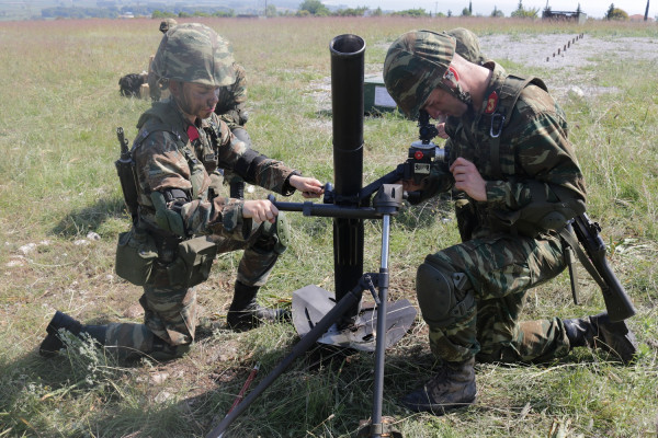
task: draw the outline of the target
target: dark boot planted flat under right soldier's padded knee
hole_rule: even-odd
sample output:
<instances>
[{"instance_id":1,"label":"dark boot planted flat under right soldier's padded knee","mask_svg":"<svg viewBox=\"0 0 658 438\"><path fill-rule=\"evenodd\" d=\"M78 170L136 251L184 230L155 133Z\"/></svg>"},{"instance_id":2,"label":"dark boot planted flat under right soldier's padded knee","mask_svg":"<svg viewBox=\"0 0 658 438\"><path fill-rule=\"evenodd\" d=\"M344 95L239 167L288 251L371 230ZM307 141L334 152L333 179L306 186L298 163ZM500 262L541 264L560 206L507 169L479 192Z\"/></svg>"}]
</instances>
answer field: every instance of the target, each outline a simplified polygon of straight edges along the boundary
<instances>
[{"instance_id":1,"label":"dark boot planted flat under right soldier's padded knee","mask_svg":"<svg viewBox=\"0 0 658 438\"><path fill-rule=\"evenodd\" d=\"M475 357L462 362L445 362L422 388L407 394L402 404L413 412L443 415L475 402Z\"/></svg>"}]
</instances>

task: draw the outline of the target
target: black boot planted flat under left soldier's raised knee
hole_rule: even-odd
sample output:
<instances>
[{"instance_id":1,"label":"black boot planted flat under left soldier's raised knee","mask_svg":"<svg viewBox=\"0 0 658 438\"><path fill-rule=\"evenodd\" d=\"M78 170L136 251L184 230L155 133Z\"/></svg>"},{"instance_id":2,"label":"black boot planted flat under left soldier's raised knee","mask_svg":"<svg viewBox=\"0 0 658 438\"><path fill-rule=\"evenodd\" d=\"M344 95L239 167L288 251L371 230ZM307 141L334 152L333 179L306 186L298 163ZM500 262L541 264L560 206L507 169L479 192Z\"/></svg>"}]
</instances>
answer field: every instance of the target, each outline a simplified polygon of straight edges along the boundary
<instances>
[{"instance_id":1,"label":"black boot planted flat under left soldier's raised knee","mask_svg":"<svg viewBox=\"0 0 658 438\"><path fill-rule=\"evenodd\" d=\"M234 330L249 330L263 322L285 321L290 312L283 309L265 309L256 302L260 287L236 281L234 299L228 308L226 322Z\"/></svg>"}]
</instances>

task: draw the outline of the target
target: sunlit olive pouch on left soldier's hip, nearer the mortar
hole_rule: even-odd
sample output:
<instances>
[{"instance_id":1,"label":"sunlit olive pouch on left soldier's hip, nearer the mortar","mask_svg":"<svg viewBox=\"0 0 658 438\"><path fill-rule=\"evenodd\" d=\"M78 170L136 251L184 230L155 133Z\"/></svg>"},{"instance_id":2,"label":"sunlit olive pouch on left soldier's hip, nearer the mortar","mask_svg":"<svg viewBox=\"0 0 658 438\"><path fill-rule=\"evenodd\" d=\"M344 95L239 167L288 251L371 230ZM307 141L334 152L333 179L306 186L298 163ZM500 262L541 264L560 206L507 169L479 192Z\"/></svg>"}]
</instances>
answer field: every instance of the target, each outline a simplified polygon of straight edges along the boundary
<instances>
[{"instance_id":1,"label":"sunlit olive pouch on left soldier's hip, nearer the mortar","mask_svg":"<svg viewBox=\"0 0 658 438\"><path fill-rule=\"evenodd\" d=\"M206 237L181 242L178 257L167 266L171 286L190 288L207 280L216 255L217 245Z\"/></svg>"}]
</instances>

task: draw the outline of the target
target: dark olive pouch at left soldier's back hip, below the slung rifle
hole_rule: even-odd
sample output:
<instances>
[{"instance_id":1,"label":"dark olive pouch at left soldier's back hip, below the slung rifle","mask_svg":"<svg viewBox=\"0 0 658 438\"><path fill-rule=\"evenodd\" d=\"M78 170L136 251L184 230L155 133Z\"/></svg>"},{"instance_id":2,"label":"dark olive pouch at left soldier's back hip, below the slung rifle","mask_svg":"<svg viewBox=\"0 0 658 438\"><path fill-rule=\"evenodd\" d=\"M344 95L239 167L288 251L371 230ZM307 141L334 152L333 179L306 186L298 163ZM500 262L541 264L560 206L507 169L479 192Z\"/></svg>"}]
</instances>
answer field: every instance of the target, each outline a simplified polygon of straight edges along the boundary
<instances>
[{"instance_id":1,"label":"dark olive pouch at left soldier's back hip, below the slung rifle","mask_svg":"<svg viewBox=\"0 0 658 438\"><path fill-rule=\"evenodd\" d=\"M158 258L156 242L143 230L132 229L118 234L116 275L135 286L144 286Z\"/></svg>"}]
</instances>

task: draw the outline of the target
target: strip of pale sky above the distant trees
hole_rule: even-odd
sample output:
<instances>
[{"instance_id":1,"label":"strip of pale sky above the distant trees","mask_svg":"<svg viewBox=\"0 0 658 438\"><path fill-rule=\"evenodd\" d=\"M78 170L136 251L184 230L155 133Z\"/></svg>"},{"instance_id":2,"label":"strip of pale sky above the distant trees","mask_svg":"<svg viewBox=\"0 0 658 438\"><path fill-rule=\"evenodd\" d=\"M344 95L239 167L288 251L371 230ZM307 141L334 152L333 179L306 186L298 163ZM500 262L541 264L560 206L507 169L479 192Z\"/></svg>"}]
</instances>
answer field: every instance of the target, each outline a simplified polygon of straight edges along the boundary
<instances>
[{"instance_id":1,"label":"strip of pale sky above the distant trees","mask_svg":"<svg viewBox=\"0 0 658 438\"><path fill-rule=\"evenodd\" d=\"M473 3L473 14L490 15L494 8L501 10L506 16L509 16L519 7L519 0L470 0ZM540 15L546 7L546 0L522 0L523 8L525 9L538 9ZM383 10L401 11L405 9L424 9L428 12L443 12L447 13L452 11L454 15L462 14L464 8L468 8L469 0L324 0L322 3L326 5L347 5L349 8L368 7L376 9L377 7ZM554 11L576 11L580 3L580 10L588 14L588 16L594 19L601 19L610 8L611 3L615 4L615 8L623 9L628 13L643 14L647 7L647 0L548 0L548 5ZM657 1L654 0L649 4L649 16L655 18L658 13Z\"/></svg>"}]
</instances>

